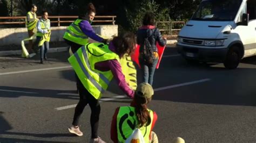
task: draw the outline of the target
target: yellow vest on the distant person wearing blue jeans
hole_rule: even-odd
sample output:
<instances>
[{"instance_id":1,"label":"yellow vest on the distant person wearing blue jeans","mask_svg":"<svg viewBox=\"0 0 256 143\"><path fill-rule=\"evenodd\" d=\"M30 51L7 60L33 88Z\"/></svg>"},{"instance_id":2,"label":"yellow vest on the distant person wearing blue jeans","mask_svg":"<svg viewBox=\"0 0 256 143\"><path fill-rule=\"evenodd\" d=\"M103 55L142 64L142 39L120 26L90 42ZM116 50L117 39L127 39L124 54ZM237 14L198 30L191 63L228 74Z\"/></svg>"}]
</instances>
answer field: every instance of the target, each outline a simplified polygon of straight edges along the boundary
<instances>
[{"instance_id":1,"label":"yellow vest on the distant person wearing blue jeans","mask_svg":"<svg viewBox=\"0 0 256 143\"><path fill-rule=\"evenodd\" d=\"M44 21L43 19L40 19L40 25L42 30L45 30L50 25L50 20L47 19ZM37 31L36 36L42 37L38 43L38 46L42 46L44 44L44 41L48 41L48 42L50 41L51 30L49 31L49 33L45 33L45 34Z\"/></svg>"}]
</instances>

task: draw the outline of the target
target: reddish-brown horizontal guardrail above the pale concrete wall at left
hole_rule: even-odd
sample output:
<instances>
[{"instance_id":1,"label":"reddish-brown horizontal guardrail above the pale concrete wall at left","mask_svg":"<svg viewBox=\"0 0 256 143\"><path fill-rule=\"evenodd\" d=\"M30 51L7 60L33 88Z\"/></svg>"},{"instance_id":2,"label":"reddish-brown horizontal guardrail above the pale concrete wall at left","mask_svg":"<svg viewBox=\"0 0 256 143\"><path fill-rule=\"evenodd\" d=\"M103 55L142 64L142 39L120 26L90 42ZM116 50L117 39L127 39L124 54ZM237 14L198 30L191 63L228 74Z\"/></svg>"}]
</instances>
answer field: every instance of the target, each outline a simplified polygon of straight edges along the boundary
<instances>
[{"instance_id":1,"label":"reddish-brown horizontal guardrail above the pale concrete wall at left","mask_svg":"<svg viewBox=\"0 0 256 143\"><path fill-rule=\"evenodd\" d=\"M95 19L97 20L93 20L92 22L95 23L112 23L114 25L114 23L116 22L116 20L114 20L114 18L116 18L117 16L95 16ZM37 17L37 18L41 18L41 17ZM48 17L51 20L51 23L58 23L57 25L60 26L60 23L72 23L76 18L78 18L78 16L49 16ZM74 20L63 20L63 18L69 18L69 19L74 19ZM6 19L6 20L14 20L14 19L19 19L21 21L19 22L0 22L1 24L24 24L26 26L26 17L25 16L20 16L20 17L0 17L1 19ZM52 19L56 19L56 20L52 20ZM62 19L62 20L60 20ZM107 20L102 20L102 19L107 19Z\"/></svg>"}]
</instances>

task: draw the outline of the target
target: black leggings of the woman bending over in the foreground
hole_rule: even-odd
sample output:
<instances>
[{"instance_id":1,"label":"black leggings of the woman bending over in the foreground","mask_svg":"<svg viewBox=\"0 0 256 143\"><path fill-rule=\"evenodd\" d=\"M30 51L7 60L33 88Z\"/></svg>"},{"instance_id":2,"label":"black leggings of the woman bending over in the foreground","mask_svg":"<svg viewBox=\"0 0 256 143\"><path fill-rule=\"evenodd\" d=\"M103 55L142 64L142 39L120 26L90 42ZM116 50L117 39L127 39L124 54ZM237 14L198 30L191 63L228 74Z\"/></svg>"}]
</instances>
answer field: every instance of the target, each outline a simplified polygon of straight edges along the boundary
<instances>
[{"instance_id":1,"label":"black leggings of the woman bending over in the foreground","mask_svg":"<svg viewBox=\"0 0 256 143\"><path fill-rule=\"evenodd\" d=\"M98 138L98 127L99 127L99 113L100 113L100 105L99 100L93 97L87 89L84 88L82 82L77 79L78 83L78 90L79 90L79 102L75 109L75 115L73 118L73 125L78 126L79 118L87 104L89 104L91 108L91 132L92 132L92 139Z\"/></svg>"}]
</instances>

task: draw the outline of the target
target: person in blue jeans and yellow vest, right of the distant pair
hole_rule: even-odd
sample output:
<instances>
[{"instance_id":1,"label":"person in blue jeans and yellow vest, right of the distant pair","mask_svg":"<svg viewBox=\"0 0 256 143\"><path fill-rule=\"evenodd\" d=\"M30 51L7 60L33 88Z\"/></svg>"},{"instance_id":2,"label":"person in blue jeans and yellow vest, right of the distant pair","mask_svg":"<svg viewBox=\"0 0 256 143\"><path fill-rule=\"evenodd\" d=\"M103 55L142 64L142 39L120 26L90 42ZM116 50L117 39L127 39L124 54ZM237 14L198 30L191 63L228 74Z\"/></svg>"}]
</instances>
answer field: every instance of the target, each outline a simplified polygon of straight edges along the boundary
<instances>
[{"instance_id":1,"label":"person in blue jeans and yellow vest, right of the distant pair","mask_svg":"<svg viewBox=\"0 0 256 143\"><path fill-rule=\"evenodd\" d=\"M50 41L50 19L48 19L48 12L43 11L42 18L39 19L37 23L37 34L36 34L36 44L40 48L40 63L44 63L44 60L47 60L47 51L49 49Z\"/></svg>"}]
</instances>

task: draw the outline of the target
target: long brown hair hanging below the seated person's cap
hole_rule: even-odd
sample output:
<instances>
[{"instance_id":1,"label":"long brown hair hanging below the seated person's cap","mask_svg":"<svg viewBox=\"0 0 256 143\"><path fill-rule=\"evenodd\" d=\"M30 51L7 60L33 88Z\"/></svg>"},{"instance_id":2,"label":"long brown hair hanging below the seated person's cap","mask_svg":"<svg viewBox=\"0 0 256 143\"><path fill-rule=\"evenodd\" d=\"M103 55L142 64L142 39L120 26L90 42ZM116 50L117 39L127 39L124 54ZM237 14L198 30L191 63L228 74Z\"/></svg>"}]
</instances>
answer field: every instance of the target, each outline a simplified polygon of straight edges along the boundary
<instances>
[{"instance_id":1,"label":"long brown hair hanging below the seated person's cap","mask_svg":"<svg viewBox=\"0 0 256 143\"><path fill-rule=\"evenodd\" d=\"M134 95L134 101L136 102L135 112L139 121L138 128L142 126L148 126L151 123L150 112L147 110L147 103L151 101L151 98L145 98L142 96Z\"/></svg>"}]
</instances>

